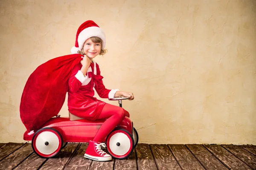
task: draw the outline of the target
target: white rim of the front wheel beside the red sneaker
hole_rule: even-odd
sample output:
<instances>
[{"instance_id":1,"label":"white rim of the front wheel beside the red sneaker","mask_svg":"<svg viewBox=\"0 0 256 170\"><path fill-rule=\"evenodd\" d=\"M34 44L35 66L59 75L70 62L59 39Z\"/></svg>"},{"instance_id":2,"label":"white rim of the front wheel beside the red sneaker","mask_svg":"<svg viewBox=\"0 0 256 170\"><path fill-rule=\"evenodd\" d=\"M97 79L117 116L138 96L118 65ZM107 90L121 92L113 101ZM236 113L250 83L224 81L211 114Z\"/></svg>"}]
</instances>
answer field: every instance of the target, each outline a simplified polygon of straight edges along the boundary
<instances>
[{"instance_id":1,"label":"white rim of the front wheel beside the red sneaker","mask_svg":"<svg viewBox=\"0 0 256 170\"><path fill-rule=\"evenodd\" d=\"M119 146L116 145L117 142L120 143ZM124 133L115 133L109 140L109 147L115 155L122 156L130 150L131 141Z\"/></svg>"}]
</instances>

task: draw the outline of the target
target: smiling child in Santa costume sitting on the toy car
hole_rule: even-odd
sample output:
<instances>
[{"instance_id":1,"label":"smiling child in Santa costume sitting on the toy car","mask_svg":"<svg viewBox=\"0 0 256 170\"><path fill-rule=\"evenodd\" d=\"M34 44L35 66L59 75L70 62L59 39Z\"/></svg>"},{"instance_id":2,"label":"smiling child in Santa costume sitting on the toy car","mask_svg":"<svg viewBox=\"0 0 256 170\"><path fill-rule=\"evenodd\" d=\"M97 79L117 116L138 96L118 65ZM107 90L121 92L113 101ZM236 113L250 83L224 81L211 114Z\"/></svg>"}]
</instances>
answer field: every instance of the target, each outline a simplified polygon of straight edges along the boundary
<instances>
[{"instance_id":1,"label":"smiling child in Santa costume sitting on the toy car","mask_svg":"<svg viewBox=\"0 0 256 170\"><path fill-rule=\"evenodd\" d=\"M105 147L106 136L118 125L129 113L123 108L110 105L96 99L96 92L101 98L130 97L134 99L131 92L119 91L118 89L106 89L100 74L99 65L93 61L97 55L106 53L105 33L102 28L91 20L81 24L76 34L75 46L71 49L72 54L82 54L81 62L73 67L68 80L68 110L75 116L96 120L107 119L100 127L93 141L89 142L84 157L97 161L111 160L111 156L105 153L101 146Z\"/></svg>"}]
</instances>

